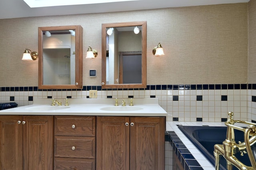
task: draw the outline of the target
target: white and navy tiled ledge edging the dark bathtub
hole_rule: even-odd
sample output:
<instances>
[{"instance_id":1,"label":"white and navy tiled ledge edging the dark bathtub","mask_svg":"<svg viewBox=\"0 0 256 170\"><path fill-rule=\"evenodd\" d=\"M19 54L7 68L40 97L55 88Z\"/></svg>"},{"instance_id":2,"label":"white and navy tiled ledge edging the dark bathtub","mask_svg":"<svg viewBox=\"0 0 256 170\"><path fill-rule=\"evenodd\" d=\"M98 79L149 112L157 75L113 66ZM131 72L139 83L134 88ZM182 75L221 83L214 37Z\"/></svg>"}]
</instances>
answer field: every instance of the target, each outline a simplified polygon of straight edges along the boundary
<instances>
[{"instance_id":1,"label":"white and navy tiled ledge edging the dark bathtub","mask_svg":"<svg viewBox=\"0 0 256 170\"><path fill-rule=\"evenodd\" d=\"M215 170L214 166L204 157L195 145L178 129L177 125L184 126L224 126L224 122L182 122L167 121L166 134L170 136L166 140L165 170L172 170L172 152L178 156L184 170ZM224 141L225 139L223 139ZM169 150L168 150L169 149Z\"/></svg>"}]
</instances>

